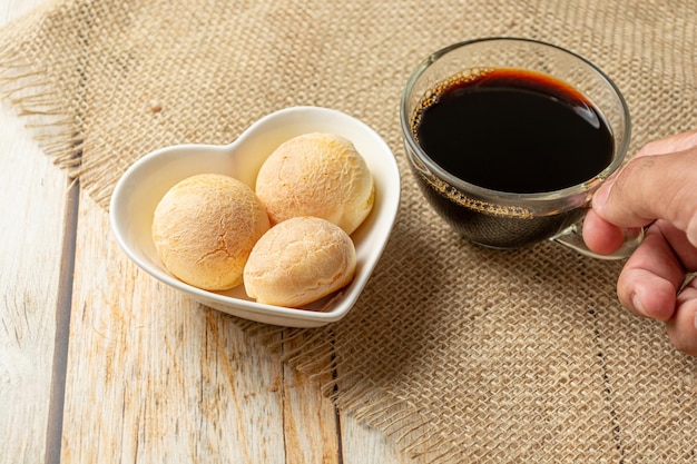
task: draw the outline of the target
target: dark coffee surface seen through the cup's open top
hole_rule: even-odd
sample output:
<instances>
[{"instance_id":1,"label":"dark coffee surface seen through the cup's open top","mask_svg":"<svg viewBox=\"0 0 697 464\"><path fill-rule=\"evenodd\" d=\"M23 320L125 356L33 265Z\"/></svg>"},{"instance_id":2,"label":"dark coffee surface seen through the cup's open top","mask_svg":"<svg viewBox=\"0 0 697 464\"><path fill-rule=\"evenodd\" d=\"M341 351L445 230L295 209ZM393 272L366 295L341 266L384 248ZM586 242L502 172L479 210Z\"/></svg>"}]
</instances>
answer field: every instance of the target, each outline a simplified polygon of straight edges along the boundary
<instances>
[{"instance_id":1,"label":"dark coffee surface seen through the cup's open top","mask_svg":"<svg viewBox=\"0 0 697 464\"><path fill-rule=\"evenodd\" d=\"M416 115L416 140L470 184L518 194L559 190L592 178L612 159L600 111L548 76L495 69L435 93Z\"/></svg>"}]
</instances>

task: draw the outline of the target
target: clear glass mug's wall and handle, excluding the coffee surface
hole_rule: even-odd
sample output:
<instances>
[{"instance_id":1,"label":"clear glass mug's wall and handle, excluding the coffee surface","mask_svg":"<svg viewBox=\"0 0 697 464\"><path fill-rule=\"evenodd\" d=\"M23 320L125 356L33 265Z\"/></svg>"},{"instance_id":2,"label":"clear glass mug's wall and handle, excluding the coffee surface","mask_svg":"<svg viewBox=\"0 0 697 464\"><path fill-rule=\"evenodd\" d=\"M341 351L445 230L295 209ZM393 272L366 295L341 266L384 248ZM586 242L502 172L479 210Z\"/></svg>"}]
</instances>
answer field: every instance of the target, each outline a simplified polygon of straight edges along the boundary
<instances>
[{"instance_id":1,"label":"clear glass mug's wall and handle, excluding the coffee surface","mask_svg":"<svg viewBox=\"0 0 697 464\"><path fill-rule=\"evenodd\" d=\"M551 76L578 90L605 117L613 139L612 158L597 175L553 191L499 191L455 177L429 156L413 132L414 117L426 93L453 78L480 69L517 69ZM612 255L597 255L583 243L581 226L592 194L622 164L631 124L615 83L595 65L560 47L529 39L485 38L455 43L431 55L410 77L400 117L412 171L426 200L464 238L491 248L519 248L551 239L583 255L624 258L644 238L625 231Z\"/></svg>"}]
</instances>

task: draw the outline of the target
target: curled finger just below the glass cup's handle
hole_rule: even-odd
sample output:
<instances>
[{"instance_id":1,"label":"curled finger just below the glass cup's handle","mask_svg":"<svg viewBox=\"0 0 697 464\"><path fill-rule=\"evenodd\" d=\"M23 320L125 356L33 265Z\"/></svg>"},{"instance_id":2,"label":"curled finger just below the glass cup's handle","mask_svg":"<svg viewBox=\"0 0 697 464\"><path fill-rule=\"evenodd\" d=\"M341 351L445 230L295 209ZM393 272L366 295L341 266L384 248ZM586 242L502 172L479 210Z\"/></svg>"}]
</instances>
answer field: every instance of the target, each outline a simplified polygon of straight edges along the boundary
<instances>
[{"instance_id":1,"label":"curled finger just below the glass cup's handle","mask_svg":"<svg viewBox=\"0 0 697 464\"><path fill-rule=\"evenodd\" d=\"M685 279L685 269L662 231L666 226L657 221L648 228L617 280L622 306L658 320L674 316L676 296Z\"/></svg>"}]
</instances>

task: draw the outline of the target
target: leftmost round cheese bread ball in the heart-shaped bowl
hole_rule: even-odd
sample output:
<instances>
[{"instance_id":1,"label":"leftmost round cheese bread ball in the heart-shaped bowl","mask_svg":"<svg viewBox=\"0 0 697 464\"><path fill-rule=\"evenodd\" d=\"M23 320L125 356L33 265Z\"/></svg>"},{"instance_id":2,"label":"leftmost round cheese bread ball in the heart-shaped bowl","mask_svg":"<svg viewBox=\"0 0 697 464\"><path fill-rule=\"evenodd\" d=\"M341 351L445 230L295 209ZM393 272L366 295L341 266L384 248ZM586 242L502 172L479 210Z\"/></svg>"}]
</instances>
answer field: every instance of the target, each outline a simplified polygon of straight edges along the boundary
<instances>
[{"instance_id":1,"label":"leftmost round cheese bread ball in the heart-shaped bowl","mask_svg":"<svg viewBox=\"0 0 697 464\"><path fill-rule=\"evenodd\" d=\"M206 290L224 290L242 284L249 253L268 228L264 205L248 186L203 174L165 194L153 217L153 241L175 277Z\"/></svg>"}]
</instances>

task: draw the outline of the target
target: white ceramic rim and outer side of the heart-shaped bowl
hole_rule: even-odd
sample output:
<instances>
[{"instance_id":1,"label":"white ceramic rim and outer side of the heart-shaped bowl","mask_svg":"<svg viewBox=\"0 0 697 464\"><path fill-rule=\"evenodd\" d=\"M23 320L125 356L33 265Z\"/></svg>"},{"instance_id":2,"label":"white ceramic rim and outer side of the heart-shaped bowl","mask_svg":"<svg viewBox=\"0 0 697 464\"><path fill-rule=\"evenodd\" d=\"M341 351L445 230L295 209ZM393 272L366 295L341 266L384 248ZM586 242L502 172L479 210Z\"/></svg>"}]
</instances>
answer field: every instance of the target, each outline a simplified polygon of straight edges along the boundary
<instances>
[{"instance_id":1,"label":"white ceramic rim and outer side of the heart-shaped bowl","mask_svg":"<svg viewBox=\"0 0 697 464\"><path fill-rule=\"evenodd\" d=\"M325 302L327 306L330 306L326 310L313 310L308 308L291 308L268 305L257 303L252 299L238 298L217 292L209 292L197 288L177 279L176 277L167 273L164 267L160 268L161 266L155 266L155 264L151 263L151 259L147 258L147 256L144 256L145 254L140 254L138 253L138 250L134 249L137 244L132 243L131 239L128 237L129 229L127 218L129 214L126 210L126 201L128 200L130 194L128 191L130 188L128 179L130 178L132 172L138 171L148 162L153 162L155 159L163 156L163 154L176 155L184 154L187 150L190 151L193 149L208 149L226 151L230 154L230 157L234 157L232 152L234 151L236 146L243 142L247 137L249 137L251 134L255 132L264 125L269 124L272 119L278 119L279 121L284 121L286 119L303 121L303 118L307 118L307 120L311 121L307 122L307 127L311 127L314 124L312 121L315 120L332 120L335 121L335 124L337 125L345 125L348 122L352 124L355 128L360 129L360 132L365 136L365 139L369 140L370 144L375 144L376 148L374 151L384 155L384 159L381 159L380 164L386 166L386 169L382 169L381 172L373 172L374 177L379 176L381 181L383 181L389 187L389 191L383 191L382 194L380 194L382 201L380 209L374 209L373 211L371 211L371 215L374 214L380 216L376 216L373 220L373 224L370 226L370 230L377 230L375 234L380 234L382 240L373 240L380 241L376 244L373 241L367 243L365 240L361 243L361 248L369 250L365 253L365 260L359 264L359 267L356 268L356 274L352 283L338 293L333 294L334 296ZM278 122L278 125L281 124L282 122ZM327 125L331 124L327 122ZM366 161L369 160L366 159ZM370 164L371 162L369 162L369 165ZM224 313L276 325L305 327L336 322L344 317L348 313L348 310L355 305L359 296L367 284L367 280L372 275L373 269L380 260L389 241L394 223L396 220L396 215L399 213L400 197L401 177L396 158L387 144L382 139L382 137L380 137L380 135L374 129L369 127L360 119L340 110L315 106L296 106L287 107L264 116L263 118L252 124L247 129L245 129L234 141L227 145L180 144L161 147L146 154L141 158L137 159L124 172L124 175L117 182L109 204L109 220L117 243L119 244L120 248L126 253L126 255L138 267L150 274L156 279L163 282L164 284L169 285L170 287L185 294L188 294L194 299L204 305L210 306ZM362 228L363 225L359 227L356 233ZM356 246L356 248L359 248L359 246ZM356 249L356 251L359 250ZM338 300L332 303L335 299ZM297 324L293 324L294 322Z\"/></svg>"}]
</instances>

